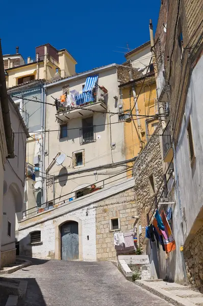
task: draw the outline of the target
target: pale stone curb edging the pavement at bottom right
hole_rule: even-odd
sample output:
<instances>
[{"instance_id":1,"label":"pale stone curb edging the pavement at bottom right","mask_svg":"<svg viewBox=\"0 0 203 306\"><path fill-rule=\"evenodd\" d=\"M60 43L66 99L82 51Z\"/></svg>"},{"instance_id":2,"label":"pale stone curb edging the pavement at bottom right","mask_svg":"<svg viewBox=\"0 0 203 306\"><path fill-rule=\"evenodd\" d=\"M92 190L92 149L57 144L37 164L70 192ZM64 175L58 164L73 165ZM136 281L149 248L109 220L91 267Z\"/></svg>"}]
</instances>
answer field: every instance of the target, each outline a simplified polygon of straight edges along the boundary
<instances>
[{"instance_id":1,"label":"pale stone curb edging the pavement at bottom right","mask_svg":"<svg viewBox=\"0 0 203 306\"><path fill-rule=\"evenodd\" d=\"M151 283L150 283L151 284ZM170 292L166 292L164 289L155 289L151 286L147 286L147 284L145 284L145 282L143 281L135 281L135 285L163 298L164 300L166 300L167 302L175 305L175 306L196 306L195 304L187 301L183 301L183 298L178 297L178 296L173 296L171 297L171 293Z\"/></svg>"}]
</instances>

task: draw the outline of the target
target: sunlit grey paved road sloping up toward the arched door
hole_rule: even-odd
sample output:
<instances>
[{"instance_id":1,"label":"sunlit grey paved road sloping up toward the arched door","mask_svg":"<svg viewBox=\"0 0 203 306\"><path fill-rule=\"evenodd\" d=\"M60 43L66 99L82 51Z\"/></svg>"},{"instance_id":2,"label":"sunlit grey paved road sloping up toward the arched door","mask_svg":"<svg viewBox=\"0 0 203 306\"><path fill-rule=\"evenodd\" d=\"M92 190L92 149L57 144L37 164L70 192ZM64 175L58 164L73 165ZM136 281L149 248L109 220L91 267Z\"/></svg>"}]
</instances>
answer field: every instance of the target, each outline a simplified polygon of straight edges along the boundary
<instances>
[{"instance_id":1,"label":"sunlit grey paved road sloping up toward the arched door","mask_svg":"<svg viewBox=\"0 0 203 306\"><path fill-rule=\"evenodd\" d=\"M35 260L9 277L28 280L19 306L167 306L167 302L126 281L110 262Z\"/></svg>"}]
</instances>

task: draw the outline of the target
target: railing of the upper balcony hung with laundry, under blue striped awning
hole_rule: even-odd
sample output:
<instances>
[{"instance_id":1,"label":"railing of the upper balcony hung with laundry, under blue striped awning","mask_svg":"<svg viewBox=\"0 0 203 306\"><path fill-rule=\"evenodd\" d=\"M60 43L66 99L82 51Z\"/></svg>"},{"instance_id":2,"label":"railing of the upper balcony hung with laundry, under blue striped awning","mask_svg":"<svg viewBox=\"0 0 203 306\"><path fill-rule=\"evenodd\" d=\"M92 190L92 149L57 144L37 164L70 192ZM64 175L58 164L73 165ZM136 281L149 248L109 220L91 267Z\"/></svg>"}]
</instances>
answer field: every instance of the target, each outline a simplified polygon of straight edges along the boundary
<instances>
[{"instance_id":1,"label":"railing of the upper balcony hung with laundry, under blue striped awning","mask_svg":"<svg viewBox=\"0 0 203 306\"><path fill-rule=\"evenodd\" d=\"M87 105L91 105L97 102L102 102L106 104L106 93L100 89L99 87L94 88L93 94L92 94L92 101L86 102L84 104L77 104L75 101L75 97L70 95L68 98L65 99L63 103L61 101L56 100L55 105L57 112L64 112L64 111L70 111L71 109L77 109L77 108L82 108Z\"/></svg>"}]
</instances>

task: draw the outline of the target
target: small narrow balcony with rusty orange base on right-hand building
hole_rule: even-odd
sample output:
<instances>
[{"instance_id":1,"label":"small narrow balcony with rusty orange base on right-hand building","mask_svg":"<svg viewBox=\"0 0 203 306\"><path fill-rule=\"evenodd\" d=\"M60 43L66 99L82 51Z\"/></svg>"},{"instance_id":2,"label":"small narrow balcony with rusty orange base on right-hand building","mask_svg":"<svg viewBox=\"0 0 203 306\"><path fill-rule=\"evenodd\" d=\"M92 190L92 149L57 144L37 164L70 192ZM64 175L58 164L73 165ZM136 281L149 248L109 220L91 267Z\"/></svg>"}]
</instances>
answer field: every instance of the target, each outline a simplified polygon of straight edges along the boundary
<instances>
[{"instance_id":1,"label":"small narrow balcony with rusty orange base on right-hand building","mask_svg":"<svg viewBox=\"0 0 203 306\"><path fill-rule=\"evenodd\" d=\"M165 163L170 163L173 158L172 141L169 122L162 134L163 157Z\"/></svg>"}]
</instances>

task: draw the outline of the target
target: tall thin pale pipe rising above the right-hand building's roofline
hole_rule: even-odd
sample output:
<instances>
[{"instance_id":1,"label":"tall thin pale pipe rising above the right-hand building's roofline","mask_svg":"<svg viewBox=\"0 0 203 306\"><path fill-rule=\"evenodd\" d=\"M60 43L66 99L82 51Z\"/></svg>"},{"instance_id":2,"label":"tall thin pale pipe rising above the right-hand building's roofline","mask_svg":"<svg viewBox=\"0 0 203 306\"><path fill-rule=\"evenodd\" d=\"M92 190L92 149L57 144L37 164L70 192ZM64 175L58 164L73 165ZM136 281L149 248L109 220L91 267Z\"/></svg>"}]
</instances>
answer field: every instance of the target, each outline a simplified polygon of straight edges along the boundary
<instances>
[{"instance_id":1,"label":"tall thin pale pipe rising above the right-hand building's roofline","mask_svg":"<svg viewBox=\"0 0 203 306\"><path fill-rule=\"evenodd\" d=\"M156 53L155 53L155 41L154 41L154 34L153 34L153 23L151 19L149 19L149 35L150 35L150 43L151 43L151 56L153 59L153 65L154 65L154 70L155 70L156 86L157 88L159 88L158 67L157 67L157 59L156 59ZM161 101L159 101L159 113L160 115L164 113L164 107ZM166 127L164 116L161 116L161 125L162 125L162 130L164 130Z\"/></svg>"}]
</instances>

